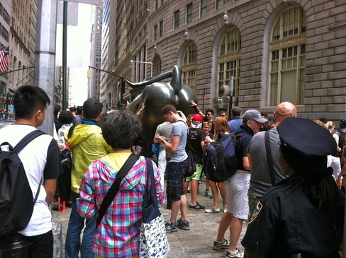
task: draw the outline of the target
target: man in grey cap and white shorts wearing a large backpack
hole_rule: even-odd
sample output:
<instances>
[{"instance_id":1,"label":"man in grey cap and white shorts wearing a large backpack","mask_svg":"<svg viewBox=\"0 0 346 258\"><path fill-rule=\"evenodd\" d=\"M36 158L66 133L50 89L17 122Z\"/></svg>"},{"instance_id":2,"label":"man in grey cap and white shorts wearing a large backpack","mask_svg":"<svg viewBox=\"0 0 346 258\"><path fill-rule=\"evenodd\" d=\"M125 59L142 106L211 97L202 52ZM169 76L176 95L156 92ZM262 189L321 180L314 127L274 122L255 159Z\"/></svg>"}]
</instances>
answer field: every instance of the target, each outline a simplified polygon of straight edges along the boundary
<instances>
[{"instance_id":1,"label":"man in grey cap and white shorts wearing a large backpack","mask_svg":"<svg viewBox=\"0 0 346 258\"><path fill-rule=\"evenodd\" d=\"M238 168L235 174L225 181L228 211L221 218L218 235L213 244L214 250L228 249L226 257L242 257L237 243L242 230L242 220L247 219L249 213L247 190L250 184L250 163L247 158L247 147L252 136L259 132L265 122L267 119L262 118L258 110L247 110L242 117L240 129L235 131L237 137L235 156L238 159ZM242 134L242 136L237 136L237 134ZM230 228L230 241L224 239L228 228Z\"/></svg>"}]
</instances>

